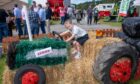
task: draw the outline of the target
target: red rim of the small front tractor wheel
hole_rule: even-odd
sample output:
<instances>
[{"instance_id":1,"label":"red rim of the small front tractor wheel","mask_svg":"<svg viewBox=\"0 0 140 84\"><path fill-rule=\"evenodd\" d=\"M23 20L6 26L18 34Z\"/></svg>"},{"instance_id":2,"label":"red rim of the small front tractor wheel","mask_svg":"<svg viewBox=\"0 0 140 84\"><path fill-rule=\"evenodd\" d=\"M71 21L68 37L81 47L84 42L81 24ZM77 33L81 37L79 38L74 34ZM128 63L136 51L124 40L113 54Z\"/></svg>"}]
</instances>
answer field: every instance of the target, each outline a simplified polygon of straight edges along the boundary
<instances>
[{"instance_id":1,"label":"red rim of the small front tractor wheel","mask_svg":"<svg viewBox=\"0 0 140 84\"><path fill-rule=\"evenodd\" d=\"M28 71L22 76L22 84L38 84L39 76L37 73Z\"/></svg>"}]
</instances>

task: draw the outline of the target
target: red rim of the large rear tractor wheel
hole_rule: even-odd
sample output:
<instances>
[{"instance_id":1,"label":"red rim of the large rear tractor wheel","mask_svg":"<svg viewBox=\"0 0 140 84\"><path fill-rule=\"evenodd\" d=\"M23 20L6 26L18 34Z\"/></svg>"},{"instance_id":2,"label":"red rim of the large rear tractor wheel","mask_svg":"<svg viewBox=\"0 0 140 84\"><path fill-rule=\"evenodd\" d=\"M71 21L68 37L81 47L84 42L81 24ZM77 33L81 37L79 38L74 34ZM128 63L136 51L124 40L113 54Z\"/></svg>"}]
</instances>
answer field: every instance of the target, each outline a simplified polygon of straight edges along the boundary
<instances>
[{"instance_id":1,"label":"red rim of the large rear tractor wheel","mask_svg":"<svg viewBox=\"0 0 140 84\"><path fill-rule=\"evenodd\" d=\"M131 60L129 58L121 58L110 68L110 78L113 82L125 83L130 79L131 71Z\"/></svg>"}]
</instances>

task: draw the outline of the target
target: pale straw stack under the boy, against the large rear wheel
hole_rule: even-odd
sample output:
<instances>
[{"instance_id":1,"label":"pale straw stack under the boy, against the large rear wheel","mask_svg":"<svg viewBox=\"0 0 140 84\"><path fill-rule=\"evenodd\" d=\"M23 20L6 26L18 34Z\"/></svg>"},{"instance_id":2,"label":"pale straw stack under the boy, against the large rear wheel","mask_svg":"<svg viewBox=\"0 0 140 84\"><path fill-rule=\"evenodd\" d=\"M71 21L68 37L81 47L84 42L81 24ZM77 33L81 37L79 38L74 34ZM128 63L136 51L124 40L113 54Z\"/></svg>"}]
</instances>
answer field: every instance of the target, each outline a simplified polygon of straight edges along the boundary
<instances>
[{"instance_id":1,"label":"pale straw stack under the boy, against the large rear wheel","mask_svg":"<svg viewBox=\"0 0 140 84\"><path fill-rule=\"evenodd\" d=\"M93 76L94 60L105 45L119 41L118 38L89 39L83 46L82 58L66 65L64 84L99 84Z\"/></svg>"}]
</instances>

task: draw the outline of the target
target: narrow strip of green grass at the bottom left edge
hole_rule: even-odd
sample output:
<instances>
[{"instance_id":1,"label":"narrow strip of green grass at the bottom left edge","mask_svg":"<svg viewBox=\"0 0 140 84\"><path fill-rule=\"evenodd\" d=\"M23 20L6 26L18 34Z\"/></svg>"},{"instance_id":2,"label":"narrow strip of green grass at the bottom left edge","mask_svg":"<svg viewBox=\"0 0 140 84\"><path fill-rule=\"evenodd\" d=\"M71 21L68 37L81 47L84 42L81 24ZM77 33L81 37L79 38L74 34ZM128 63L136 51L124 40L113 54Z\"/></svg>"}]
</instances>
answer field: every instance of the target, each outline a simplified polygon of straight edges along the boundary
<instances>
[{"instance_id":1,"label":"narrow strip of green grass at the bottom left edge","mask_svg":"<svg viewBox=\"0 0 140 84\"><path fill-rule=\"evenodd\" d=\"M0 58L0 84L2 84L2 74L4 71L5 65L6 65L6 58L5 56L2 56L2 58Z\"/></svg>"}]
</instances>

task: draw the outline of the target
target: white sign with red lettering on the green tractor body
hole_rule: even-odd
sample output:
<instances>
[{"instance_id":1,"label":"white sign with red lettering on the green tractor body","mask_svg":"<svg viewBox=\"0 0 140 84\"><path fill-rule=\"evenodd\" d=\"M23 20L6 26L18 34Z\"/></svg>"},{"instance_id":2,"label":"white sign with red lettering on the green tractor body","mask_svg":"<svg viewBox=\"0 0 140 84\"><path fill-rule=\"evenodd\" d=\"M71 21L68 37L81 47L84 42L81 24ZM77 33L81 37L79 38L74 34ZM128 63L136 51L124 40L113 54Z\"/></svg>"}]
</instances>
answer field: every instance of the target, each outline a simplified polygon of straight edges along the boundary
<instances>
[{"instance_id":1,"label":"white sign with red lettering on the green tractor body","mask_svg":"<svg viewBox=\"0 0 140 84\"><path fill-rule=\"evenodd\" d=\"M42 56L48 55L50 53L52 53L52 48L51 47L48 47L48 48L45 48L45 49L36 51L35 52L35 56L36 57L42 57Z\"/></svg>"}]
</instances>

